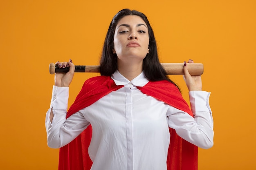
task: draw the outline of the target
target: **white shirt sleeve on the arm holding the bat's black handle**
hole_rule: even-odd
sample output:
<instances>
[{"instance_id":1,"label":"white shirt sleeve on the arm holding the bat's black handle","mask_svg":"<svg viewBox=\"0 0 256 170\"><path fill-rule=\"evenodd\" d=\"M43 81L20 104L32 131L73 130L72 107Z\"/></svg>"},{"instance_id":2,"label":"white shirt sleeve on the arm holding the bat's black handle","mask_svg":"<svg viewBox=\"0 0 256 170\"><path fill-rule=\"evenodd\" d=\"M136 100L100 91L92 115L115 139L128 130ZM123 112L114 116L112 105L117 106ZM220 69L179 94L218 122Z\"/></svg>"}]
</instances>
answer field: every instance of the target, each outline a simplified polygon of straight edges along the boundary
<instances>
[{"instance_id":1,"label":"white shirt sleeve on the arm holding the bat's black handle","mask_svg":"<svg viewBox=\"0 0 256 170\"><path fill-rule=\"evenodd\" d=\"M75 139L90 124L79 111L66 119L69 97L68 87L53 86L50 108L45 117L47 144L50 148L61 148ZM51 110L54 117L49 119Z\"/></svg>"}]
</instances>

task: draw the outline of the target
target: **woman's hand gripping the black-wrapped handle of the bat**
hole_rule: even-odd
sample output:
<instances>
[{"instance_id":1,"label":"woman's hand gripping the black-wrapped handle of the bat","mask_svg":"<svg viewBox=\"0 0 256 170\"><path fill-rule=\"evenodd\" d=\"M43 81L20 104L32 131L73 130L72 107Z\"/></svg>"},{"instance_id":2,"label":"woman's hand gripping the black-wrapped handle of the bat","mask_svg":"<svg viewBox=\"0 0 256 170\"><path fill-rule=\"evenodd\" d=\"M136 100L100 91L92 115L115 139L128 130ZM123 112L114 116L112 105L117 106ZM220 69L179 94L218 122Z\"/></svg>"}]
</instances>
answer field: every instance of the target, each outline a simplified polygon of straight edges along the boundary
<instances>
[{"instance_id":1,"label":"woman's hand gripping the black-wrapped handle of the bat","mask_svg":"<svg viewBox=\"0 0 256 170\"><path fill-rule=\"evenodd\" d=\"M55 73L54 81L57 87L68 87L72 82L75 73L75 66L70 59L68 62L56 62L60 68L70 67L67 73Z\"/></svg>"}]
</instances>

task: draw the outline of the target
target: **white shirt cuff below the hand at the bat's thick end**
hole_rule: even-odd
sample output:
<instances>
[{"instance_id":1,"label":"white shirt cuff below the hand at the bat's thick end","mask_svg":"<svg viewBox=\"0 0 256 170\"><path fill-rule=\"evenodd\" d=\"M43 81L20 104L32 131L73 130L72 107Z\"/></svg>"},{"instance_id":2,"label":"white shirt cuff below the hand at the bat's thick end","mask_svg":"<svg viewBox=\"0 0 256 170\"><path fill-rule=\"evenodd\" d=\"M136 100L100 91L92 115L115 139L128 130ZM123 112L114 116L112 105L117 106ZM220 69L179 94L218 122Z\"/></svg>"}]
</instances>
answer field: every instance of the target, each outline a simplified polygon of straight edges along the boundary
<instances>
[{"instance_id":1,"label":"white shirt cuff below the hand at the bat's thick end","mask_svg":"<svg viewBox=\"0 0 256 170\"><path fill-rule=\"evenodd\" d=\"M206 91L190 91L189 101L191 105L191 110L195 112L211 112L209 97L210 92Z\"/></svg>"}]
</instances>

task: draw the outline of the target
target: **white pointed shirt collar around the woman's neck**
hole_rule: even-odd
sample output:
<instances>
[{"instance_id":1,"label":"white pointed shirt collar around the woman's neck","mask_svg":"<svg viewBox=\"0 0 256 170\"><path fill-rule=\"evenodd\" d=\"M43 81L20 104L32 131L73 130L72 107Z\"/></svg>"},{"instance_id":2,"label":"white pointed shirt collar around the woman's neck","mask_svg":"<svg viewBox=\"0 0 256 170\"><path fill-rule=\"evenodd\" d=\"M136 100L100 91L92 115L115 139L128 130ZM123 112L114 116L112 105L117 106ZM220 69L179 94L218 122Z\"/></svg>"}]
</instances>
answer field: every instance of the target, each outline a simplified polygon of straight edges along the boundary
<instances>
[{"instance_id":1,"label":"white pointed shirt collar around the woman's neck","mask_svg":"<svg viewBox=\"0 0 256 170\"><path fill-rule=\"evenodd\" d=\"M132 83L134 86L143 87L149 82L143 71L131 81L121 75L118 70L116 70L115 73L111 75L111 78L114 80L116 85L126 85Z\"/></svg>"}]
</instances>

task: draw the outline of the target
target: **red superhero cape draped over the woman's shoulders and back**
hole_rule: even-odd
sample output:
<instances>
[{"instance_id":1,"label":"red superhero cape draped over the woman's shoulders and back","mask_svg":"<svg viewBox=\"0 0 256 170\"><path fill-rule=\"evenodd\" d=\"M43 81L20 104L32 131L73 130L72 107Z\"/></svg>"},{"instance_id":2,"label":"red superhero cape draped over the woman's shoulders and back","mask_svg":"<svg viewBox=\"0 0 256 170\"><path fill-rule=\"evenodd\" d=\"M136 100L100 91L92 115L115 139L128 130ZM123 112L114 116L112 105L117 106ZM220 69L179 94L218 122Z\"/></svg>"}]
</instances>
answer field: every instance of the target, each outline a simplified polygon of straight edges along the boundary
<instances>
[{"instance_id":1,"label":"red superhero cape draped over the woman's shoulders and back","mask_svg":"<svg viewBox=\"0 0 256 170\"><path fill-rule=\"evenodd\" d=\"M110 76L97 76L86 80L74 104L70 106L67 117L122 87L117 86ZM155 97L193 116L188 104L174 84L162 80L148 82L144 87L137 88L142 93ZM171 140L168 149L167 169L197 170L198 147L179 137L174 129L169 128L169 130ZM58 170L90 170L92 161L88 155L88 147L91 136L92 127L88 126L76 139L60 148Z\"/></svg>"}]
</instances>

